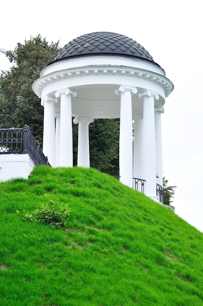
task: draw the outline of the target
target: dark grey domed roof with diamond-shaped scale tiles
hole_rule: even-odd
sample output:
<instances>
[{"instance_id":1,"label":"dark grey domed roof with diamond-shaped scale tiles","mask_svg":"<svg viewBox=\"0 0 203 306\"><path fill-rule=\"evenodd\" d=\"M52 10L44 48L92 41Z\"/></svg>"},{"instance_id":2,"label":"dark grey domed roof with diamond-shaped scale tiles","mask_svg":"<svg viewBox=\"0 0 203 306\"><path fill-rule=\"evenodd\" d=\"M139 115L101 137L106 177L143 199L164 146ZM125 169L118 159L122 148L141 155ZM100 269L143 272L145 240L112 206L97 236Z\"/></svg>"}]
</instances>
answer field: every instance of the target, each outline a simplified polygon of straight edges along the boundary
<instances>
[{"instance_id":1,"label":"dark grey domed roof with diamond-shaped scale tiles","mask_svg":"<svg viewBox=\"0 0 203 306\"><path fill-rule=\"evenodd\" d=\"M117 33L94 32L64 45L50 64L62 59L91 55L133 57L154 63L149 52L133 39Z\"/></svg>"}]
</instances>

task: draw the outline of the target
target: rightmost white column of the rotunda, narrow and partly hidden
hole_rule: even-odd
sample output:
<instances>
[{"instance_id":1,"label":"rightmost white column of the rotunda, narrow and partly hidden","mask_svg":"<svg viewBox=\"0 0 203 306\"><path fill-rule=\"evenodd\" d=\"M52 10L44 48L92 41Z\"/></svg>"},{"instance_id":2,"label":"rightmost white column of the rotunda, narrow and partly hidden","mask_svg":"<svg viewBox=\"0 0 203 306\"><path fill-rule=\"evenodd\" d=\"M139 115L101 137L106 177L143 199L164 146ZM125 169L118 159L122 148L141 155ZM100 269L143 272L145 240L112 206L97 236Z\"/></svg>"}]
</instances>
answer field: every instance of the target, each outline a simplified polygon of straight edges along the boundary
<instances>
[{"instance_id":1,"label":"rightmost white column of the rotunda, narrow and partly hidden","mask_svg":"<svg viewBox=\"0 0 203 306\"><path fill-rule=\"evenodd\" d=\"M162 113L164 108L155 108L155 135L156 135L156 164L157 164L157 183L163 187L162 170Z\"/></svg>"}]
</instances>

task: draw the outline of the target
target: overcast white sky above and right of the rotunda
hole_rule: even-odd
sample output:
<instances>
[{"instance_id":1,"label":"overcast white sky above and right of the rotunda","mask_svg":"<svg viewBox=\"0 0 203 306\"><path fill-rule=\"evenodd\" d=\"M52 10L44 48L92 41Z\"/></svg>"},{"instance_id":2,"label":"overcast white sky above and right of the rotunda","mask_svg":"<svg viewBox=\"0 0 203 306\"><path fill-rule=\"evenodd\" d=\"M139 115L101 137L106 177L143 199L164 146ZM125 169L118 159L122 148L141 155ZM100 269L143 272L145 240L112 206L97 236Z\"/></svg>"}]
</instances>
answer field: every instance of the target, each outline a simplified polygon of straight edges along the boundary
<instances>
[{"instance_id":1,"label":"overcast white sky above and right of the rotunda","mask_svg":"<svg viewBox=\"0 0 203 306\"><path fill-rule=\"evenodd\" d=\"M163 175L176 185L176 214L203 232L203 17L200 0L11 0L0 4L0 47L41 34L60 46L96 31L149 51L174 90L162 115ZM9 62L0 53L0 70Z\"/></svg>"}]
</instances>

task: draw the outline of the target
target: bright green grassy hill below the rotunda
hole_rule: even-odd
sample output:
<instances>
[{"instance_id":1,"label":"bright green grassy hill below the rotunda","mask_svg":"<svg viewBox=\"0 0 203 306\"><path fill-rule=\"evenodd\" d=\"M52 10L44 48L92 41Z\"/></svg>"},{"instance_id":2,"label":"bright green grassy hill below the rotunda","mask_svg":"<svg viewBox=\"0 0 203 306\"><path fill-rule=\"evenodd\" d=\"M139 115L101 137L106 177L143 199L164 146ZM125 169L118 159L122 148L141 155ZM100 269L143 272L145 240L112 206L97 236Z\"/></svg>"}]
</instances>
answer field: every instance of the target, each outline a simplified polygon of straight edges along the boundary
<instances>
[{"instance_id":1,"label":"bright green grassy hill below the rotunda","mask_svg":"<svg viewBox=\"0 0 203 306\"><path fill-rule=\"evenodd\" d=\"M16 213L45 194L69 203L66 227ZM93 169L39 166L2 182L0 306L48 305L203 305L203 234Z\"/></svg>"}]
</instances>

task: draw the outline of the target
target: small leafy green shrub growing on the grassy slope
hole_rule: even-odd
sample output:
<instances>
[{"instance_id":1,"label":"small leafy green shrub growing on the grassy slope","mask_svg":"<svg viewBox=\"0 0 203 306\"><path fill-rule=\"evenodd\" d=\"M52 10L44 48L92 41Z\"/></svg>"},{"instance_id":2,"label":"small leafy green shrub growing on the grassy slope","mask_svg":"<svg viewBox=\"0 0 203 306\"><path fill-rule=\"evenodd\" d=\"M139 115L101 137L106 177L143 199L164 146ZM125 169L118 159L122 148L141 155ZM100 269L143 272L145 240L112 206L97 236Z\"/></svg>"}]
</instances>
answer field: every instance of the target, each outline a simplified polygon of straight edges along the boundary
<instances>
[{"instance_id":1,"label":"small leafy green shrub growing on the grassy slope","mask_svg":"<svg viewBox=\"0 0 203 306\"><path fill-rule=\"evenodd\" d=\"M21 214L24 220L40 221L48 224L53 228L60 228L66 225L68 217L70 215L69 204L60 203L59 198L56 197L52 200L48 195L46 204L41 204L40 209L35 209L32 213L23 211ZM17 211L17 213L20 213Z\"/></svg>"}]
</instances>

